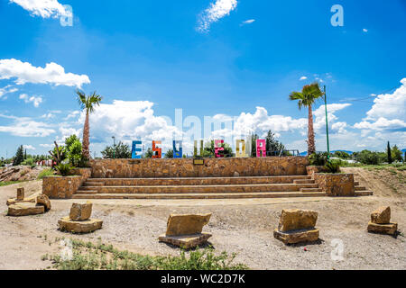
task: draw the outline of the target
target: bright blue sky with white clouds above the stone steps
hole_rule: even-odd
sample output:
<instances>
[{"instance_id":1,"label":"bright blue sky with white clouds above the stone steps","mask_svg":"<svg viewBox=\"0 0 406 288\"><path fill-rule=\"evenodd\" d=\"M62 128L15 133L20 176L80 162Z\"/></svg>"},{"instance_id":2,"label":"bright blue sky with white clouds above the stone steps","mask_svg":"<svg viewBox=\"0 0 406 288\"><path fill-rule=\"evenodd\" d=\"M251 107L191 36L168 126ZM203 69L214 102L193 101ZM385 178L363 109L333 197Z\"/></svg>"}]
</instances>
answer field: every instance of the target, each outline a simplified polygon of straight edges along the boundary
<instances>
[{"instance_id":1,"label":"bright blue sky with white clouds above the stone steps","mask_svg":"<svg viewBox=\"0 0 406 288\"><path fill-rule=\"evenodd\" d=\"M72 26L60 24L64 4ZM344 26L330 23L334 4ZM98 156L113 135L164 147L183 137L188 150L207 134L186 137L191 128L175 124L176 108L187 123L223 121L213 138L272 129L303 151L307 112L288 95L313 81L327 85L332 149L406 147L404 0L0 0L0 14L3 157L18 145L42 154L53 140L81 136L78 87L104 97L90 121ZM326 149L321 104L318 150Z\"/></svg>"}]
</instances>

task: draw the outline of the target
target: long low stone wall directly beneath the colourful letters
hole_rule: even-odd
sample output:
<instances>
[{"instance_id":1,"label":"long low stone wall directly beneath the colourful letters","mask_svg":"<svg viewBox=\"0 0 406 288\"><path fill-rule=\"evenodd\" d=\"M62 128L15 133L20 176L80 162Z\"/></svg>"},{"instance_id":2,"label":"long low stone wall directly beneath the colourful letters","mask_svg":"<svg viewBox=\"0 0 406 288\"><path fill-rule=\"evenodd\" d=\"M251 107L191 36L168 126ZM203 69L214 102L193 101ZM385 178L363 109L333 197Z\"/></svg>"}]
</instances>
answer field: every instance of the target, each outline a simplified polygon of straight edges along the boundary
<instances>
[{"instance_id":1,"label":"long low stone wall directly beneath the colourful letters","mask_svg":"<svg viewBox=\"0 0 406 288\"><path fill-rule=\"evenodd\" d=\"M307 175L307 157L95 159L90 161L94 178L232 177Z\"/></svg>"}]
</instances>

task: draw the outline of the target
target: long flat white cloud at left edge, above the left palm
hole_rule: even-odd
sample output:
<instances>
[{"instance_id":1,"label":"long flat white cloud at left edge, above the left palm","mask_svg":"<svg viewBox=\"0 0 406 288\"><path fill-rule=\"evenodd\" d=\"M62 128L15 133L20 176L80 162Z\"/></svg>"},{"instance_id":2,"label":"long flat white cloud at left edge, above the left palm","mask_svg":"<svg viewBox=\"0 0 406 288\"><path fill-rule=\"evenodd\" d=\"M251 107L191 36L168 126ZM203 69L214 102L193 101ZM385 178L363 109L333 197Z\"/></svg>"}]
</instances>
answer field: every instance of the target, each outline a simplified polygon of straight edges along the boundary
<instances>
[{"instance_id":1,"label":"long flat white cloud at left edge, above the left palm","mask_svg":"<svg viewBox=\"0 0 406 288\"><path fill-rule=\"evenodd\" d=\"M45 67L33 67L31 63L20 60L0 59L0 79L16 78L15 84L26 83L77 86L90 83L87 75L65 73L65 68L56 63L48 63Z\"/></svg>"}]
</instances>

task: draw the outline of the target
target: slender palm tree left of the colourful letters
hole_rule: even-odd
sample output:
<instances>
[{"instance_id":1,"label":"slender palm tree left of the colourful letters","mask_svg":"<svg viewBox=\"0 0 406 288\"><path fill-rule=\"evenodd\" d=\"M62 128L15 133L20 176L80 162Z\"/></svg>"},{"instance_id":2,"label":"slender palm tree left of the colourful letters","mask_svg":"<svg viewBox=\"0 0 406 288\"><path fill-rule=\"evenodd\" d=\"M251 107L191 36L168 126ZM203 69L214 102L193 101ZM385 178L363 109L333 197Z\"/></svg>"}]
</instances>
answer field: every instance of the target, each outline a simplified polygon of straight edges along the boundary
<instances>
[{"instance_id":1,"label":"slender palm tree left of the colourful letters","mask_svg":"<svg viewBox=\"0 0 406 288\"><path fill-rule=\"evenodd\" d=\"M82 110L86 111L86 120L85 120L85 125L83 126L83 143L82 143L82 154L85 158L89 159L90 158L90 151L88 149L89 141L88 141L88 135L89 135L89 125L88 125L88 114L95 111L95 106L99 105L100 102L102 101L103 97L96 94L96 91L93 92L93 94L86 95L80 90L76 91L76 94L78 94L78 103L80 105L80 108Z\"/></svg>"}]
</instances>

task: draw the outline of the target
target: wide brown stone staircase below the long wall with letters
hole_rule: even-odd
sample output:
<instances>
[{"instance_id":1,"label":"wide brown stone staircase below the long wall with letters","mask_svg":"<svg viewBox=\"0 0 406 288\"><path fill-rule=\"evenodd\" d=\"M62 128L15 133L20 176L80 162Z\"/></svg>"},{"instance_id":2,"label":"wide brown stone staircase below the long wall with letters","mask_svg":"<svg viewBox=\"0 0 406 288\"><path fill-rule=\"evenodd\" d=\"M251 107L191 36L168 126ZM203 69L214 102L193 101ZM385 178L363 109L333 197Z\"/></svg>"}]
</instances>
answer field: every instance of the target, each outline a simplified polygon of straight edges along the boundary
<instances>
[{"instance_id":1,"label":"wide brown stone staircase below the long wall with letters","mask_svg":"<svg viewBox=\"0 0 406 288\"><path fill-rule=\"evenodd\" d=\"M308 175L88 178L74 199L237 199L327 196Z\"/></svg>"}]
</instances>

